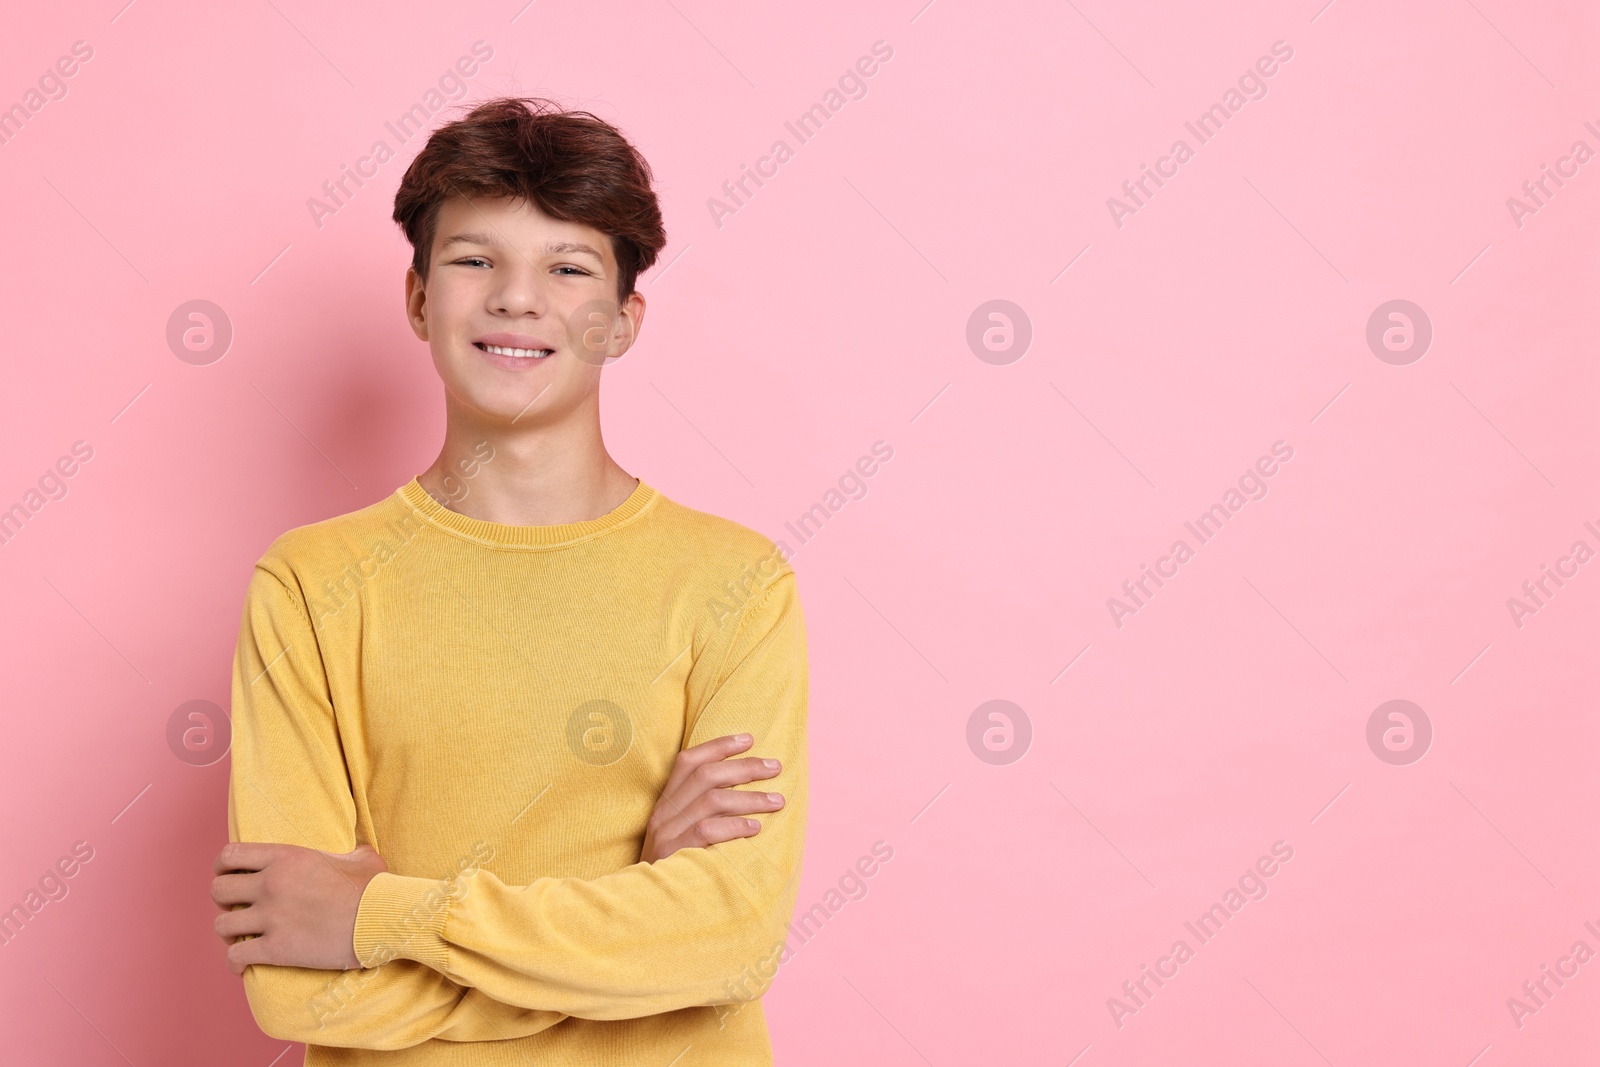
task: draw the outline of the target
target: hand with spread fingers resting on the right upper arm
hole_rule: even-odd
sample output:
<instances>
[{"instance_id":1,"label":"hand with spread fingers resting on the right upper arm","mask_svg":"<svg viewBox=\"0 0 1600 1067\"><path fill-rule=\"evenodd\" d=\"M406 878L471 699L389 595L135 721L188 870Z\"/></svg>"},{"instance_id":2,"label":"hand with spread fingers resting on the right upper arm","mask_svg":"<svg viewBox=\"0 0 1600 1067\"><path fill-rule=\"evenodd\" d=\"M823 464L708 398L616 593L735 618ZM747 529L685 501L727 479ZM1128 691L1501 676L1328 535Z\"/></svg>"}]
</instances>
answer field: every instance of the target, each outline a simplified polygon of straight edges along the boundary
<instances>
[{"instance_id":1,"label":"hand with spread fingers resting on the right upper arm","mask_svg":"<svg viewBox=\"0 0 1600 1067\"><path fill-rule=\"evenodd\" d=\"M645 825L642 862L653 864L680 848L704 848L762 832L760 822L741 816L778 811L784 798L733 787L774 777L782 766L778 760L728 758L750 744L750 734L734 734L678 753L667 787L661 790L661 800Z\"/></svg>"}]
</instances>

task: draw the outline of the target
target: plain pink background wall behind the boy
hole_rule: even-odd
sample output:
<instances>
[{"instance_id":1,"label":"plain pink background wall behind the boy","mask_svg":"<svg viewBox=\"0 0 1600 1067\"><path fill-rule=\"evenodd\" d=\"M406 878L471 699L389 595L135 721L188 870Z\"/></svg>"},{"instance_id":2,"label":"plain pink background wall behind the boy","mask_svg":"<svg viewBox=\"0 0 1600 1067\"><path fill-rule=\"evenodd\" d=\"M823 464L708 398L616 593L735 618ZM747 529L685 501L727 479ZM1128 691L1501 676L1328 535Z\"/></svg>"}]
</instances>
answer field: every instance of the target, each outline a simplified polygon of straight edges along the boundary
<instances>
[{"instance_id":1,"label":"plain pink background wall behind the boy","mask_svg":"<svg viewBox=\"0 0 1600 1067\"><path fill-rule=\"evenodd\" d=\"M1506 1003L1600 950L1600 561L1522 627L1506 603L1600 549L1600 160L1520 227L1506 203L1600 149L1592 5L122 3L0 35L0 104L93 46L0 146L0 507L94 450L0 545L0 905L94 848L0 947L0 1061L285 1051L211 933L227 760L178 760L166 723L226 707L269 541L437 451L389 221L421 138L384 122L475 40L467 101L554 93L658 173L670 243L603 394L624 469L794 544L894 450L795 557L802 909L874 841L894 857L784 965L779 1062L1600 1053L1600 960L1520 1027ZM878 40L867 94L798 146L784 122ZM1278 40L1267 96L1197 146L1182 123ZM306 200L379 138L398 158L318 229ZM794 158L718 227L707 198L779 138ZM1176 138L1194 158L1115 226ZM165 341L192 299L235 334L205 366ZM992 299L1032 323L1006 365L966 342ZM1390 299L1434 326L1410 365L1366 346ZM1266 499L1118 629L1107 597L1277 440ZM992 699L1032 726L1008 765L966 741ZM1432 723L1419 761L1368 747L1390 699ZM1269 896L1197 945L1184 923L1275 841ZM1179 937L1194 958L1118 1027L1107 998Z\"/></svg>"}]
</instances>

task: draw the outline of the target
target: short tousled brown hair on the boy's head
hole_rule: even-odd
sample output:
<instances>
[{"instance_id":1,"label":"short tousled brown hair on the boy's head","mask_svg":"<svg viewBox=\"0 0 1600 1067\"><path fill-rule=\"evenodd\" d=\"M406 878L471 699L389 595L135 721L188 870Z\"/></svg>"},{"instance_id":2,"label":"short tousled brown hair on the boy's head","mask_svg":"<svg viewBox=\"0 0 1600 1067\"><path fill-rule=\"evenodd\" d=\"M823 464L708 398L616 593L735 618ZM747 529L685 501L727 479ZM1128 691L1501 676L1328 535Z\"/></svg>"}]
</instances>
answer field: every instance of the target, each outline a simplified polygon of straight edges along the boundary
<instances>
[{"instance_id":1,"label":"short tousled brown hair on the boy's head","mask_svg":"<svg viewBox=\"0 0 1600 1067\"><path fill-rule=\"evenodd\" d=\"M549 99L502 96L434 131L400 179L394 219L411 242L411 269L427 282L445 200L526 200L611 238L622 301L667 243L650 182L650 163L603 118Z\"/></svg>"}]
</instances>

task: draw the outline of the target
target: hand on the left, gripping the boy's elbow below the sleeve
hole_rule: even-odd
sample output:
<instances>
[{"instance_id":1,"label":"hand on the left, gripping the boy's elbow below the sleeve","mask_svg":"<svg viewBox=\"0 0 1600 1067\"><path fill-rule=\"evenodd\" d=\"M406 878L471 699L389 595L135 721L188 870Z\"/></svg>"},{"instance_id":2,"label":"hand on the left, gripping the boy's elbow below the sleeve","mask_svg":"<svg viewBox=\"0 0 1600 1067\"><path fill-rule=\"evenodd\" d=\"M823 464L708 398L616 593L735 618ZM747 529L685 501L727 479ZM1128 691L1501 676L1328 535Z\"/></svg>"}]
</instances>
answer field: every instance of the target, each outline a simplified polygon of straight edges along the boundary
<instances>
[{"instance_id":1,"label":"hand on the left, gripping the boy's elbow below the sleeve","mask_svg":"<svg viewBox=\"0 0 1600 1067\"><path fill-rule=\"evenodd\" d=\"M251 963L349 971L355 958L355 912L366 883L389 870L371 845L323 853L299 845L234 841L216 856L211 899L234 909L216 917L227 942L227 969Z\"/></svg>"}]
</instances>

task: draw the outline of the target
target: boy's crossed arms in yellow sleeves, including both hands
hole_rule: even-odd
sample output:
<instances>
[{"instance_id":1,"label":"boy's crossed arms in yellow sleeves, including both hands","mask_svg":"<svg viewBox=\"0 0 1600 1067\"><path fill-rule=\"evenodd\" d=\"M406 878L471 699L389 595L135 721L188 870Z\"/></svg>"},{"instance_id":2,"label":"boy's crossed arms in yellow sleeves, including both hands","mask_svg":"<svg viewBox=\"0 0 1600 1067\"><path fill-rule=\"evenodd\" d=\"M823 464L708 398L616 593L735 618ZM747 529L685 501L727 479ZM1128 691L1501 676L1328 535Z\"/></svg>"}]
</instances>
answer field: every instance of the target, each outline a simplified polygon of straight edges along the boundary
<instances>
[{"instance_id":1,"label":"boy's crossed arms in yellow sleeves, including both hands","mask_svg":"<svg viewBox=\"0 0 1600 1067\"><path fill-rule=\"evenodd\" d=\"M224 941L258 934L232 944L229 963L261 1029L392 1049L736 1000L728 979L782 942L800 870L806 669L794 574L728 627L696 662L707 673L643 862L525 886L485 869L440 881L392 873L358 848L315 632L293 582L258 568L234 665L235 845L218 857L213 896L237 909L218 918ZM758 833L738 822L776 806L731 785L771 774L726 758L747 747L730 733L754 734L781 763L773 785L789 809ZM293 790L274 787L285 763L299 768Z\"/></svg>"}]
</instances>

